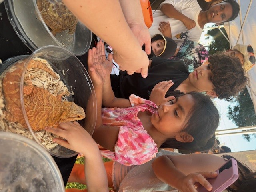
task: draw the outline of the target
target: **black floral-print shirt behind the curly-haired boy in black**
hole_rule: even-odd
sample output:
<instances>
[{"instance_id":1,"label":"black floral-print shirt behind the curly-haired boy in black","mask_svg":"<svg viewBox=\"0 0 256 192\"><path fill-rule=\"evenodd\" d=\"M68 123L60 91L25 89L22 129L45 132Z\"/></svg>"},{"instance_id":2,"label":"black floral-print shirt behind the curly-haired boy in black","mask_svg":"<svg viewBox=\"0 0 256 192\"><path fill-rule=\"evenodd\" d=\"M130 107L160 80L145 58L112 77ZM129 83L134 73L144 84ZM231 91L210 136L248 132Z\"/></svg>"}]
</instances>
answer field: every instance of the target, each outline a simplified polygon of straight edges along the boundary
<instances>
[{"instance_id":1,"label":"black floral-print shirt behind the curly-haired boy in black","mask_svg":"<svg viewBox=\"0 0 256 192\"><path fill-rule=\"evenodd\" d=\"M176 57L171 57L171 59L183 60L188 71L193 72L195 68L201 66L208 59L208 56L209 53L202 44L185 39Z\"/></svg>"}]
</instances>

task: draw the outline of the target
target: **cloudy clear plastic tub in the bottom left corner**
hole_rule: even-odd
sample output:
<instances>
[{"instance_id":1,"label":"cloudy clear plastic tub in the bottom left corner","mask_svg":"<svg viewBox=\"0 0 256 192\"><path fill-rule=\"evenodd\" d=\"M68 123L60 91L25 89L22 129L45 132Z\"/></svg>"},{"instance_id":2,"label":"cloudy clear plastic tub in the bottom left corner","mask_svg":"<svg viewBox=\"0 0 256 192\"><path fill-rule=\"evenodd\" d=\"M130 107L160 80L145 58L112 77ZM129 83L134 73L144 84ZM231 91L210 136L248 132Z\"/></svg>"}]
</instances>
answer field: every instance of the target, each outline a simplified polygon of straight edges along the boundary
<instances>
[{"instance_id":1,"label":"cloudy clear plastic tub in the bottom left corner","mask_svg":"<svg viewBox=\"0 0 256 192\"><path fill-rule=\"evenodd\" d=\"M0 191L65 192L60 170L34 141L0 132Z\"/></svg>"}]
</instances>

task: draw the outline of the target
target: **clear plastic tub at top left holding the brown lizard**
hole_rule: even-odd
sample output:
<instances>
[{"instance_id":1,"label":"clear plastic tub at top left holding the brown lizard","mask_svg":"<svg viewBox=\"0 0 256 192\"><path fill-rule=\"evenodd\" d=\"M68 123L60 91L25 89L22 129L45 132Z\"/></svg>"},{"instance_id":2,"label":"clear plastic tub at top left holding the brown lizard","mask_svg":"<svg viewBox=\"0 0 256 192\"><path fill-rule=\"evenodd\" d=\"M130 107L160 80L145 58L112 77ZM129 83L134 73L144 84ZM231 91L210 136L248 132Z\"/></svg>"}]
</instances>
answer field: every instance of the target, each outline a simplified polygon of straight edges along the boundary
<instances>
[{"instance_id":1,"label":"clear plastic tub at top left holding the brown lizard","mask_svg":"<svg viewBox=\"0 0 256 192\"><path fill-rule=\"evenodd\" d=\"M53 4L60 1L49 0ZM92 32L80 21L74 34L65 30L54 36L40 14L36 0L5 0L4 4L15 32L30 50L56 45L68 49L74 55L83 55L90 48Z\"/></svg>"}]
</instances>

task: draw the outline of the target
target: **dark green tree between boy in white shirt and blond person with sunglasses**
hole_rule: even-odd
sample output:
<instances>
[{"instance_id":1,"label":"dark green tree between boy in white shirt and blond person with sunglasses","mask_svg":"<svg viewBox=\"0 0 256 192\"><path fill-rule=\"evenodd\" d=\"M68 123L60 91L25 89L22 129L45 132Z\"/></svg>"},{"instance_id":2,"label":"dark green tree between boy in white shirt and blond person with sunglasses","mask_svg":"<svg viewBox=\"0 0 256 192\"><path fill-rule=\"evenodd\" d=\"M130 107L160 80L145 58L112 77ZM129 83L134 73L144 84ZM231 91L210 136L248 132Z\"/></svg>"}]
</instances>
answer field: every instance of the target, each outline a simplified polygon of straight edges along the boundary
<instances>
[{"instance_id":1,"label":"dark green tree between boy in white shirt and blond person with sunglasses","mask_svg":"<svg viewBox=\"0 0 256 192\"><path fill-rule=\"evenodd\" d=\"M226 30L224 28L220 28L222 32L226 35ZM208 52L212 55L218 51L224 51L229 49L229 42L226 40L226 38L222 35L220 30L212 29L208 30L207 34L213 37L213 41L208 46ZM209 37L208 37L209 38Z\"/></svg>"}]
</instances>

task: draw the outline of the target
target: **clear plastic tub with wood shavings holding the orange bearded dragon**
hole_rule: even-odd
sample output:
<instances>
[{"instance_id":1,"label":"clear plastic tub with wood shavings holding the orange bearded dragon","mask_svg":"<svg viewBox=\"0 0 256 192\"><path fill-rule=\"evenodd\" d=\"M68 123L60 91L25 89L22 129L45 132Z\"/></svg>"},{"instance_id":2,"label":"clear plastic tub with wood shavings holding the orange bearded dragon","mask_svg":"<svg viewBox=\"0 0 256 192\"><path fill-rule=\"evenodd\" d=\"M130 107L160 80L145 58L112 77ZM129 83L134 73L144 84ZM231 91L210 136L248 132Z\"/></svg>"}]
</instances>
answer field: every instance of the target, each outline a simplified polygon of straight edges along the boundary
<instances>
[{"instance_id":1,"label":"clear plastic tub with wood shavings holding the orange bearded dragon","mask_svg":"<svg viewBox=\"0 0 256 192\"><path fill-rule=\"evenodd\" d=\"M92 86L92 82L90 80L90 77L82 65L82 63L74 56L71 52L68 50L58 47L58 46L44 46L35 52L33 52L30 56L16 56L13 58L10 58L6 60L3 64L0 65L0 74L1 76L4 76L5 74L15 74L15 76L20 76L19 80L10 81L9 84L13 84L16 87L11 86L4 86L4 82L6 80L2 80L2 85L4 88L2 89L2 94L4 95L4 99L8 97L8 95L5 95L6 92L12 92L12 90L20 90L16 94L11 95L12 99L17 98L18 94L18 100L16 103L18 104L18 108L16 111L20 111L19 114L22 115L22 120L20 120L20 124L25 124L28 130L30 131L30 134L32 135L32 138L38 142L38 144L44 146L50 154L56 156L56 157L61 157L61 158L68 158L71 156L74 156L77 154L77 152L74 152L72 150L69 150L67 148L64 148L60 145L56 144L50 144L50 146L54 147L49 147L48 144L48 137L47 134L45 133L45 130L42 130L40 132L38 131L33 131L32 127L30 126L29 119L27 118L26 110L25 110L25 103L24 103L24 93L23 93L23 86L24 86L24 77L27 72L26 68L28 66L28 63L32 59L43 59L46 60L50 66L54 69L54 71L60 76L60 80L66 85L67 89L70 94L69 96L65 96L65 99L68 101L75 102L78 106L82 107L84 111L86 112L86 107L88 105L89 97L91 96L92 100L92 106L93 106L93 112L92 114L86 114L86 118L83 120L79 120L78 123L83 126L89 134L93 134L95 124L96 124L96 96L94 93L94 88ZM14 66L22 65L22 70L18 72ZM19 74L18 74L19 73ZM32 72L33 80L36 78L39 78L36 76L36 72ZM13 76L13 75L11 75ZM6 76L4 77L6 79ZM7 81L8 82L8 81ZM43 87L48 86L47 82L44 82L44 80L39 78L39 81ZM8 85L9 85L8 84ZM50 85L52 86L52 85ZM4 91L8 88L6 91ZM55 89L55 88L53 88ZM59 91L61 92L61 90ZM50 94L50 93L49 93ZM10 94L9 94L10 95ZM10 99L9 99L10 100ZM35 111L37 109L35 108ZM38 120L39 121L39 120ZM7 130L9 131L9 130ZM12 131L12 130L11 130ZM24 130L22 130L24 131ZM21 131L21 133L22 133ZM43 134L43 135L42 135ZM26 135L25 135L26 136ZM30 138L30 136L28 136ZM44 139L46 138L46 139ZM46 142L45 142L46 140ZM52 138L51 138L52 140Z\"/></svg>"}]
</instances>

